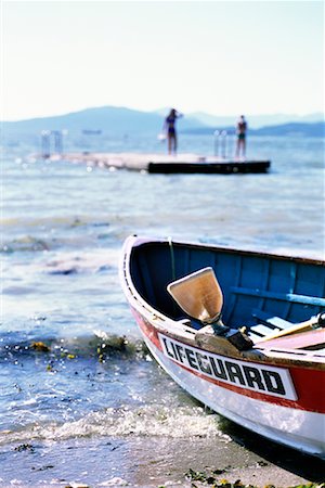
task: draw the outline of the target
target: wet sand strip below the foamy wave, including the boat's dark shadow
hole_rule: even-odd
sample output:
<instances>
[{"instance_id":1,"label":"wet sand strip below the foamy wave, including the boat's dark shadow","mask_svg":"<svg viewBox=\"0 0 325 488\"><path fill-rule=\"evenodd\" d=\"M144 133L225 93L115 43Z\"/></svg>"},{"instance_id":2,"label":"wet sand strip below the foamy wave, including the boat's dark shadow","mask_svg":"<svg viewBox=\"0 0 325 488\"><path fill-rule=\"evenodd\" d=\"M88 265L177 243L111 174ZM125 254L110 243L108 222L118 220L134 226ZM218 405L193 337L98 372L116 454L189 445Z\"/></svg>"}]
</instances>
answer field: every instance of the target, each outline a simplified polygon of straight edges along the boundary
<instances>
[{"instance_id":1,"label":"wet sand strip below the foamy wave, including the boat's dark shadow","mask_svg":"<svg viewBox=\"0 0 325 488\"><path fill-rule=\"evenodd\" d=\"M240 480L243 485L261 488L324 481L325 465L316 458L268 442L229 424L226 431L232 429L236 441L232 438L194 437L188 441L102 437L36 441L21 449L11 446L6 452L3 448L0 450L0 486L207 486L207 483L191 480L191 470L212 477L214 483Z\"/></svg>"}]
</instances>

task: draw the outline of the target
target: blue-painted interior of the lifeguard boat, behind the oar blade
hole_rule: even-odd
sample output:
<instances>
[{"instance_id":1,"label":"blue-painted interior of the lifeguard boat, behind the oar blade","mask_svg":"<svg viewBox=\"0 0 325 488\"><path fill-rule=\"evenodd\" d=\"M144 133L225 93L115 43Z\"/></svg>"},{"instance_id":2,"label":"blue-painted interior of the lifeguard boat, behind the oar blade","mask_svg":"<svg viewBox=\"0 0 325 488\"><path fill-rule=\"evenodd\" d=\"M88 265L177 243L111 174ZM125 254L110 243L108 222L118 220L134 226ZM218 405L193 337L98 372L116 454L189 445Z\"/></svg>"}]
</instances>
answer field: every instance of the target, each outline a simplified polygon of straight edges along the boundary
<instances>
[{"instance_id":1,"label":"blue-painted interior of the lifeguard boat, behind the oar blade","mask_svg":"<svg viewBox=\"0 0 325 488\"><path fill-rule=\"evenodd\" d=\"M263 324L283 329L325 310L323 261L171 242L151 242L131 252L130 272L138 293L174 320L186 318L167 285L211 267L223 293L222 320L263 336ZM202 324L191 319L193 328ZM266 333L266 332L265 332Z\"/></svg>"}]
</instances>

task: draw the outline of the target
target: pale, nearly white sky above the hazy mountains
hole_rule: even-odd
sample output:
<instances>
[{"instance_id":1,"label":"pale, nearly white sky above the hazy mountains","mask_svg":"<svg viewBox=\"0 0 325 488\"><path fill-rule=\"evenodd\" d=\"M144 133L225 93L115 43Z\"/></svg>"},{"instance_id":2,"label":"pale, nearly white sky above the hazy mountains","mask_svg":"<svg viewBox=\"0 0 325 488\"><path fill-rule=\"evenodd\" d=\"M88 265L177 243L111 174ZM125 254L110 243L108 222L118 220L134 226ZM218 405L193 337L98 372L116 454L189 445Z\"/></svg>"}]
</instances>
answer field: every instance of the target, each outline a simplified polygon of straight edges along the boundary
<instances>
[{"instance_id":1,"label":"pale, nearly white sky above the hazy mountains","mask_svg":"<svg viewBox=\"0 0 325 488\"><path fill-rule=\"evenodd\" d=\"M1 1L1 118L324 113L323 1Z\"/></svg>"}]
</instances>

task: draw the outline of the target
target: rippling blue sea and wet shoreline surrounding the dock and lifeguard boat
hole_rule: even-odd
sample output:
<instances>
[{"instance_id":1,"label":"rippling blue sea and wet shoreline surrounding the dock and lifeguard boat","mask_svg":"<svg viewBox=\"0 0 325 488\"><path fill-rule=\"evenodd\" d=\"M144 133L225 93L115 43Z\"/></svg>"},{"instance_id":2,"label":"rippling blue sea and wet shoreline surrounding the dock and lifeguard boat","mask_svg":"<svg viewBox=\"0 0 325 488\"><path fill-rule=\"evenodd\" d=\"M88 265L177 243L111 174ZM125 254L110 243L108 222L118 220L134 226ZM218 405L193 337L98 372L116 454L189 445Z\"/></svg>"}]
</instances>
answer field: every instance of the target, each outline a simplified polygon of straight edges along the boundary
<instances>
[{"instance_id":1,"label":"rippling blue sea and wet shoreline surrounding the dock and lifeguard boat","mask_svg":"<svg viewBox=\"0 0 325 488\"><path fill-rule=\"evenodd\" d=\"M165 151L99 142L82 150ZM213 151L208 137L180 142ZM185 486L187 468L213 466L247 483L324 480L323 464L301 471L300 454L252 442L182 391L145 349L118 280L134 233L324 258L324 140L251 138L266 175L148 175L37 151L3 149L0 486Z\"/></svg>"}]
</instances>

